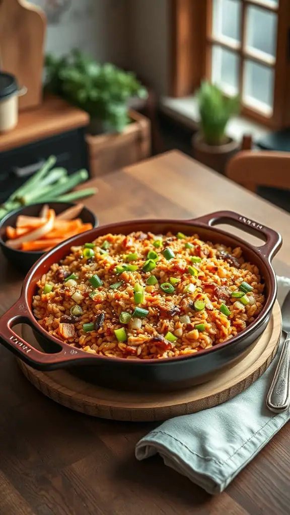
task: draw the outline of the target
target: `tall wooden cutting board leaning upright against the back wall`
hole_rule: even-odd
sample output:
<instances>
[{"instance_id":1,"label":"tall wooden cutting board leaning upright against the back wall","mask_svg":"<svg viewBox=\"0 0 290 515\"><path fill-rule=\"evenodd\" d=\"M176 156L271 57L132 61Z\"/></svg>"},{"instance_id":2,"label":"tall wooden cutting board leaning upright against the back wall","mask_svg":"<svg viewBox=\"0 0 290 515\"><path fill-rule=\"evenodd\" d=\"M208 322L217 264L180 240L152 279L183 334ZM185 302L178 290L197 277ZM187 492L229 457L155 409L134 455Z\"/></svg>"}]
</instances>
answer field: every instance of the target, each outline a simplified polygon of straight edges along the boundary
<instances>
[{"instance_id":1,"label":"tall wooden cutting board leaning upright against the back wall","mask_svg":"<svg viewBox=\"0 0 290 515\"><path fill-rule=\"evenodd\" d=\"M0 0L0 68L17 77L19 109L37 107L42 101L42 72L46 18L26 0Z\"/></svg>"}]
</instances>

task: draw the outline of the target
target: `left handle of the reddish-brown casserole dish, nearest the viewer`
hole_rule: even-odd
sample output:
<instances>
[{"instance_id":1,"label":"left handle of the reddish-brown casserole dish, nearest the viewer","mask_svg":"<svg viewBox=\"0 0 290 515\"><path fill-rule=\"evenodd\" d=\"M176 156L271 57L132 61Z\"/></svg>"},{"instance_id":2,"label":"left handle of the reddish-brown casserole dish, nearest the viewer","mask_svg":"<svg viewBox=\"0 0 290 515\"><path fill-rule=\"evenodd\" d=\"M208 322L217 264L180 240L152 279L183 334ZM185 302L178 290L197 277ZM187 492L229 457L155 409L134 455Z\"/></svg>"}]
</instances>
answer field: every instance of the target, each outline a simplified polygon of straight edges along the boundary
<instances>
[{"instance_id":1,"label":"left handle of the reddish-brown casserole dish, nearest the viewer","mask_svg":"<svg viewBox=\"0 0 290 515\"><path fill-rule=\"evenodd\" d=\"M27 365L38 370L53 370L61 365L65 367L72 364L75 358L83 354L79 349L70 348L66 344L62 345L60 340L57 340L60 351L54 354L45 354L29 345L12 328L16 324L27 323L35 329L30 317L25 303L20 298L0 319L0 341Z\"/></svg>"}]
</instances>

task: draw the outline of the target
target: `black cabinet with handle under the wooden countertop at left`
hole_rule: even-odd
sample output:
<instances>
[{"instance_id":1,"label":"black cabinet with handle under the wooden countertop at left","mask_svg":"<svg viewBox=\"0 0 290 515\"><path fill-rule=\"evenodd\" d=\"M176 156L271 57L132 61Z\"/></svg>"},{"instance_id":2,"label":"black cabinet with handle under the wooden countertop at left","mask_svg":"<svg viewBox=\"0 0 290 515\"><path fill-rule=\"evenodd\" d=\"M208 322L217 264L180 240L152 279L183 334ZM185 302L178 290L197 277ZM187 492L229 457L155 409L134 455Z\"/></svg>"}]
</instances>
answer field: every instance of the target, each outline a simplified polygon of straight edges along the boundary
<instances>
[{"instance_id":1,"label":"black cabinet with handle under the wooden countertop at left","mask_svg":"<svg viewBox=\"0 0 290 515\"><path fill-rule=\"evenodd\" d=\"M0 203L39 170L42 163L52 155L57 158L55 166L63 166L69 174L80 168L89 171L84 128L0 152Z\"/></svg>"}]
</instances>

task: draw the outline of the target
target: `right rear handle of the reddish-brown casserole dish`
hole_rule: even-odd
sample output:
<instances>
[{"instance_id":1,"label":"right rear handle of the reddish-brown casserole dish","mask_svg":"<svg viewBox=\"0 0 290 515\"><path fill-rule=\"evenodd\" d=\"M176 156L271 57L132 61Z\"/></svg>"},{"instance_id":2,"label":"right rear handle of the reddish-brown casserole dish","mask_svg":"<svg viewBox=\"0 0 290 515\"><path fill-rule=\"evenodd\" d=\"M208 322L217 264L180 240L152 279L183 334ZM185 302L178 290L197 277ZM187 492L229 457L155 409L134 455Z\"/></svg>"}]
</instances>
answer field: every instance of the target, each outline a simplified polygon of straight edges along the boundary
<instances>
[{"instance_id":1,"label":"right rear handle of the reddish-brown casserole dish","mask_svg":"<svg viewBox=\"0 0 290 515\"><path fill-rule=\"evenodd\" d=\"M253 249L261 254L261 257L270 262L280 249L282 245L282 236L279 232L270 229L267 226L263 226L258 222L247 218L246 216L239 215L234 211L217 211L216 213L210 213L208 215L200 216L190 220L190 222L198 222L199 225L205 227L214 227L219 224L228 224L237 229L252 234L257 238L263 239L264 245L255 247L250 245Z\"/></svg>"}]
</instances>

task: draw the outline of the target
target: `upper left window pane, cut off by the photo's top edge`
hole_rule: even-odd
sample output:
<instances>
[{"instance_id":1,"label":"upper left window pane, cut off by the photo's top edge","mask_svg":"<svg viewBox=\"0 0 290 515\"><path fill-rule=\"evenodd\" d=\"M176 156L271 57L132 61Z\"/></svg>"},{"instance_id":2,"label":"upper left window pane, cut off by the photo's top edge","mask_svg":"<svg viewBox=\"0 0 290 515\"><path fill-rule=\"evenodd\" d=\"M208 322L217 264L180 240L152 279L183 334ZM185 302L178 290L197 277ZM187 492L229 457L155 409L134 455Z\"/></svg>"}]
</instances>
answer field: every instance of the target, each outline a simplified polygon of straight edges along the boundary
<instances>
[{"instance_id":1,"label":"upper left window pane, cut off by the photo's top edge","mask_svg":"<svg viewBox=\"0 0 290 515\"><path fill-rule=\"evenodd\" d=\"M240 41L240 0L214 0L213 7L213 35Z\"/></svg>"}]
</instances>

